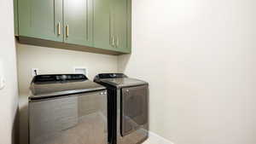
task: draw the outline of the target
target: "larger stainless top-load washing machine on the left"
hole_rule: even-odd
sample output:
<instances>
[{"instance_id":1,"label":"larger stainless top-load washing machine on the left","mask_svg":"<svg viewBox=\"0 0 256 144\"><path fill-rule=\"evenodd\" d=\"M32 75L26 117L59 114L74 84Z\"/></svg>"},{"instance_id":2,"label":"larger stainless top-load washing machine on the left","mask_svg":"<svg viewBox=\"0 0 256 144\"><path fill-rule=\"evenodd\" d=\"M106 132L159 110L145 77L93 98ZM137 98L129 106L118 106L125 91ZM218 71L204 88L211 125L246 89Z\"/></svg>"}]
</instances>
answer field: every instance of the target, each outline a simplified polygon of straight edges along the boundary
<instances>
[{"instance_id":1,"label":"larger stainless top-load washing machine on the left","mask_svg":"<svg viewBox=\"0 0 256 144\"><path fill-rule=\"evenodd\" d=\"M29 97L30 144L108 144L107 90L82 74L38 75Z\"/></svg>"}]
</instances>

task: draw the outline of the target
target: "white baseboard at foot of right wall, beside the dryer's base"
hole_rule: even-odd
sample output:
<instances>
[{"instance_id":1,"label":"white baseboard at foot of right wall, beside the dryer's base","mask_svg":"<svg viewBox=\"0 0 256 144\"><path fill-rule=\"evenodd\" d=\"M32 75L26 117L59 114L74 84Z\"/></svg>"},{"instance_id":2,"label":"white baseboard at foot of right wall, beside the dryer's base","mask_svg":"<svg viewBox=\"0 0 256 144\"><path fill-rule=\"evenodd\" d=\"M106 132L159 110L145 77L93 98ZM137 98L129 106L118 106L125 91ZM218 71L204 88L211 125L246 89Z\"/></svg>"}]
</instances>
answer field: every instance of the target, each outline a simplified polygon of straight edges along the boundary
<instances>
[{"instance_id":1,"label":"white baseboard at foot of right wall, beside the dryer's base","mask_svg":"<svg viewBox=\"0 0 256 144\"><path fill-rule=\"evenodd\" d=\"M166 138L155 134L152 131L148 132L148 141L152 144L174 144L172 141L167 140Z\"/></svg>"}]
</instances>

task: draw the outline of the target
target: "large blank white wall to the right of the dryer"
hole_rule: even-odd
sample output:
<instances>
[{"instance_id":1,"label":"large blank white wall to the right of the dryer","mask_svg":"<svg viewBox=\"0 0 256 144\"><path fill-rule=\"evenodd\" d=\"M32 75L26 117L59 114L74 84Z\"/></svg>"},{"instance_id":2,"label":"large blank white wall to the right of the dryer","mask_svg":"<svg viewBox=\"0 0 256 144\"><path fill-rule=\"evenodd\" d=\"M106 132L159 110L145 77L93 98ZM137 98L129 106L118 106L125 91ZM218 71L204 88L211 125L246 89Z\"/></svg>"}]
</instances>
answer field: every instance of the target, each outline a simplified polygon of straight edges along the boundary
<instances>
[{"instance_id":1,"label":"large blank white wall to the right of the dryer","mask_svg":"<svg viewBox=\"0 0 256 144\"><path fill-rule=\"evenodd\" d=\"M119 72L150 84L150 130L175 144L256 143L256 1L134 0Z\"/></svg>"}]
</instances>

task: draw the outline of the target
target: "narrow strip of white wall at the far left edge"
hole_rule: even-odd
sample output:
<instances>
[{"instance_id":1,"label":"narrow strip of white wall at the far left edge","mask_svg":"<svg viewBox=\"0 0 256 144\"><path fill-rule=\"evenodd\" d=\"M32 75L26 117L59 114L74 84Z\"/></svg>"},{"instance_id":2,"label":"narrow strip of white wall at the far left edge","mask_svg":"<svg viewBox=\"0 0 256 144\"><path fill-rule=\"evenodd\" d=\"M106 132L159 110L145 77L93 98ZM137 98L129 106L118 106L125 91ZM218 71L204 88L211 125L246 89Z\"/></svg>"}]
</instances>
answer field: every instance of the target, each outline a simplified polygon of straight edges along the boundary
<instances>
[{"instance_id":1,"label":"narrow strip of white wall at the far left edge","mask_svg":"<svg viewBox=\"0 0 256 144\"><path fill-rule=\"evenodd\" d=\"M15 117L18 107L13 1L0 1L0 74L6 86L0 89L0 144L15 143Z\"/></svg>"}]
</instances>

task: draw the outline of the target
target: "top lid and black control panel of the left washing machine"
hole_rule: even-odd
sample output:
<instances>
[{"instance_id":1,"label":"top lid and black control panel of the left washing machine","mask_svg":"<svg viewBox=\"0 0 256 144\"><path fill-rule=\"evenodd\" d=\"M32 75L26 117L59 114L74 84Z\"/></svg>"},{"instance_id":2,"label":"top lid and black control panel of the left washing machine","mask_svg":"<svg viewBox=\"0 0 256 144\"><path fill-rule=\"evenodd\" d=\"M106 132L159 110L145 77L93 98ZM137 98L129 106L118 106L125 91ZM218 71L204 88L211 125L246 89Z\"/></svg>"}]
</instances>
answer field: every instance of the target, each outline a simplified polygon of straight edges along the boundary
<instances>
[{"instance_id":1,"label":"top lid and black control panel of the left washing machine","mask_svg":"<svg viewBox=\"0 0 256 144\"><path fill-rule=\"evenodd\" d=\"M32 80L29 99L74 95L102 89L106 88L90 81L82 74L38 75Z\"/></svg>"}]
</instances>

